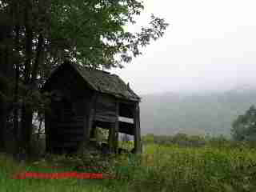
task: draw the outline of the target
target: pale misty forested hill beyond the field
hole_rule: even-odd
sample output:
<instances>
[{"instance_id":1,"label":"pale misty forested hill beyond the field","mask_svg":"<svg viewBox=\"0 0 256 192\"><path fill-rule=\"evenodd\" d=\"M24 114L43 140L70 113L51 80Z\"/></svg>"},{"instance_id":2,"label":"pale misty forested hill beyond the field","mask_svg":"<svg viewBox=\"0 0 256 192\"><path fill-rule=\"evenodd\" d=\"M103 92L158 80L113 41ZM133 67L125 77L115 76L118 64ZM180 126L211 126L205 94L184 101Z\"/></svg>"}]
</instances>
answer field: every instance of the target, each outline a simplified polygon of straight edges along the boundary
<instances>
[{"instance_id":1,"label":"pale misty forested hill beyond the field","mask_svg":"<svg viewBox=\"0 0 256 192\"><path fill-rule=\"evenodd\" d=\"M142 95L142 134L210 134L230 136L231 123L256 104L256 89L226 92Z\"/></svg>"}]
</instances>

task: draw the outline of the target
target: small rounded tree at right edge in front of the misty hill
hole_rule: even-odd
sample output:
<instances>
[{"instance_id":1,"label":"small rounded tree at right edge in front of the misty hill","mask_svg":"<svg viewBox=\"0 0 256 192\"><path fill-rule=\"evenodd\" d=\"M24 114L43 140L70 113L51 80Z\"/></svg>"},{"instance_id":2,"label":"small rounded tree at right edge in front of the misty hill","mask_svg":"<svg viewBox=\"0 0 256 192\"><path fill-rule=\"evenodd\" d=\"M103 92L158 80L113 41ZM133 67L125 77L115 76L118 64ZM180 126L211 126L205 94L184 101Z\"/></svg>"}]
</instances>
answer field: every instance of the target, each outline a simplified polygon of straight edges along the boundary
<instances>
[{"instance_id":1,"label":"small rounded tree at right edge in front of the misty hill","mask_svg":"<svg viewBox=\"0 0 256 192\"><path fill-rule=\"evenodd\" d=\"M234 120L231 130L232 136L237 141L252 141L256 139L256 108L250 106L245 114L239 115Z\"/></svg>"}]
</instances>

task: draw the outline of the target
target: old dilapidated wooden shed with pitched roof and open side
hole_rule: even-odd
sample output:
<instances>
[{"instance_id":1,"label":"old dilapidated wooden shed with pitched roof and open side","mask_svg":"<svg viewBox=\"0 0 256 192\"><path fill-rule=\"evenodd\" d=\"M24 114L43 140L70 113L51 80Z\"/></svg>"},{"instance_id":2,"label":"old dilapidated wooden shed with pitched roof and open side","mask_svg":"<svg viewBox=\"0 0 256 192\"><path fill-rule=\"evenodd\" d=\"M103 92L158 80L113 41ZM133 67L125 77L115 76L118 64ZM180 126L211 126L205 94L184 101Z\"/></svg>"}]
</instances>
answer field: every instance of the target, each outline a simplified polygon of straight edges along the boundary
<instances>
[{"instance_id":1,"label":"old dilapidated wooden shed with pitched roof and open side","mask_svg":"<svg viewBox=\"0 0 256 192\"><path fill-rule=\"evenodd\" d=\"M118 133L124 133L134 135L134 150L141 152L140 98L118 75L66 61L42 90L51 95L45 118L48 152L86 147L95 127L109 130L110 151L117 151Z\"/></svg>"}]
</instances>

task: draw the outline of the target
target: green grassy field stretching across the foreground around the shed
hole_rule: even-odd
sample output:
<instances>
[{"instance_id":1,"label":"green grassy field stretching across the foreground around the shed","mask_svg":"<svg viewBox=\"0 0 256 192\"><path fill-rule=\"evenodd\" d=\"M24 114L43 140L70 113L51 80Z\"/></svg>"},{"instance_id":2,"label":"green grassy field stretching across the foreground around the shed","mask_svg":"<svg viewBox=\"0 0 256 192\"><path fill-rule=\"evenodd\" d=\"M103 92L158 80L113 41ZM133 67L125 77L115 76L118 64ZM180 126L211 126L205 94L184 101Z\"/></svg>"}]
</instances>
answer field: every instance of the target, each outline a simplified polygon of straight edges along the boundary
<instances>
[{"instance_id":1,"label":"green grassy field stretching across the foreground around the shed","mask_svg":"<svg viewBox=\"0 0 256 192\"><path fill-rule=\"evenodd\" d=\"M18 165L1 154L0 191L256 191L256 150L246 146L150 144L140 157L122 155L103 165L103 170L92 170L114 174L117 179L11 178L14 173L21 171L63 172L96 161L54 156L50 160ZM56 165L62 168L49 168Z\"/></svg>"}]
</instances>

